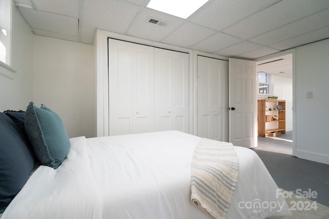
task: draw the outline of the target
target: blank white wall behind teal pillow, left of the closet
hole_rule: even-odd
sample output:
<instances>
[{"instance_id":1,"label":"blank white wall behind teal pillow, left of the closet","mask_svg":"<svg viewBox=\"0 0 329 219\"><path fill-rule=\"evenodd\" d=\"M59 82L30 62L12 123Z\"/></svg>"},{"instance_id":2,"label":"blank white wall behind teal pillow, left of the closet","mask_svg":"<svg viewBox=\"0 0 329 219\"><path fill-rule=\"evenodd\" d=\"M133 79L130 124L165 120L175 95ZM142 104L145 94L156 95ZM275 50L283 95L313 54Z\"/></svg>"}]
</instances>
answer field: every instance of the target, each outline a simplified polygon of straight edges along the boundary
<instances>
[{"instance_id":1,"label":"blank white wall behind teal pillow, left of the closet","mask_svg":"<svg viewBox=\"0 0 329 219\"><path fill-rule=\"evenodd\" d=\"M57 112L69 137L96 136L93 59L92 45L34 36L34 103Z\"/></svg>"}]
</instances>

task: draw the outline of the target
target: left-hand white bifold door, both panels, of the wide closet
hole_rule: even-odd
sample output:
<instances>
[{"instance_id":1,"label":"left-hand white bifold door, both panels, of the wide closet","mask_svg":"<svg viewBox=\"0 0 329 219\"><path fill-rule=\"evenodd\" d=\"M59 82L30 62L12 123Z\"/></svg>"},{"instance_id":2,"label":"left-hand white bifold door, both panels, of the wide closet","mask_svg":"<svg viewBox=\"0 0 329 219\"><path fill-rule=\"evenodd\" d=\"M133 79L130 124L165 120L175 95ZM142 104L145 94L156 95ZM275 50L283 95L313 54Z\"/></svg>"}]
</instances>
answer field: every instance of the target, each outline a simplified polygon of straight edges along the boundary
<instances>
[{"instance_id":1,"label":"left-hand white bifold door, both panels, of the wide closet","mask_svg":"<svg viewBox=\"0 0 329 219\"><path fill-rule=\"evenodd\" d=\"M108 39L109 135L154 131L154 48Z\"/></svg>"}]
</instances>

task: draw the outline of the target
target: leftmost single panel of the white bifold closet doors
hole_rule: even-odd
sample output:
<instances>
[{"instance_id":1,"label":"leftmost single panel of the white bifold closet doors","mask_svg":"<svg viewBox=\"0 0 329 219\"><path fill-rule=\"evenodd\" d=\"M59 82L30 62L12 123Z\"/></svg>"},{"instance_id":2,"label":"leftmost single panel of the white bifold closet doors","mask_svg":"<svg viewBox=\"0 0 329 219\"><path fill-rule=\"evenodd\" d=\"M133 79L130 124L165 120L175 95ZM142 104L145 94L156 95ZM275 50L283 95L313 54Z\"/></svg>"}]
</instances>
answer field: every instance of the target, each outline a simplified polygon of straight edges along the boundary
<instances>
[{"instance_id":1,"label":"leftmost single panel of the white bifold closet doors","mask_svg":"<svg viewBox=\"0 0 329 219\"><path fill-rule=\"evenodd\" d=\"M109 39L109 135L130 134L133 129L132 45Z\"/></svg>"}]
</instances>

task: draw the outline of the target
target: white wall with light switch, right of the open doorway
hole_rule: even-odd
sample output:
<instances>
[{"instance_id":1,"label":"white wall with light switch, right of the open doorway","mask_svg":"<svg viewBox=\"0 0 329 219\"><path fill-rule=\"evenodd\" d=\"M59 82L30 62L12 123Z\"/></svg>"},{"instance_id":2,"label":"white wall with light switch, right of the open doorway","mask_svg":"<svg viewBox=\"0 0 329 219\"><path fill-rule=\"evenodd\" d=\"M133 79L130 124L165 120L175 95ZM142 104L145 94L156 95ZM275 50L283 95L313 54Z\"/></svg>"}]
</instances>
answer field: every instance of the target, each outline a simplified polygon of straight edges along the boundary
<instances>
[{"instance_id":1,"label":"white wall with light switch, right of the open doorway","mask_svg":"<svg viewBox=\"0 0 329 219\"><path fill-rule=\"evenodd\" d=\"M296 49L296 156L324 164L329 164L328 61L329 39Z\"/></svg>"}]
</instances>

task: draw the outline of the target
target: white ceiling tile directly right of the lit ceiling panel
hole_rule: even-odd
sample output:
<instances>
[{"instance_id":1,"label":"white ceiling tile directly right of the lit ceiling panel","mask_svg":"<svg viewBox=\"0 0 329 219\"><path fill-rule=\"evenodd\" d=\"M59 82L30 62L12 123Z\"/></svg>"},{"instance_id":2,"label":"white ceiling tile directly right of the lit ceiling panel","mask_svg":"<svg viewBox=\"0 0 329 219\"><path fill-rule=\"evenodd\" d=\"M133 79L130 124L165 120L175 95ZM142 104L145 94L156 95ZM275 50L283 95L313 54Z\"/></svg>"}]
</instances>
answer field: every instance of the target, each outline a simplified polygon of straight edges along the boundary
<instances>
[{"instance_id":1,"label":"white ceiling tile directly right of the lit ceiling panel","mask_svg":"<svg viewBox=\"0 0 329 219\"><path fill-rule=\"evenodd\" d=\"M212 3L192 14L188 21L215 30L222 30L275 2L278 2L278 0L212 1Z\"/></svg>"}]
</instances>

